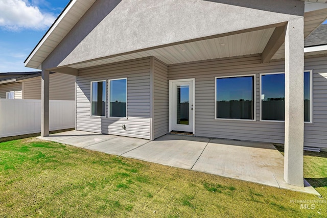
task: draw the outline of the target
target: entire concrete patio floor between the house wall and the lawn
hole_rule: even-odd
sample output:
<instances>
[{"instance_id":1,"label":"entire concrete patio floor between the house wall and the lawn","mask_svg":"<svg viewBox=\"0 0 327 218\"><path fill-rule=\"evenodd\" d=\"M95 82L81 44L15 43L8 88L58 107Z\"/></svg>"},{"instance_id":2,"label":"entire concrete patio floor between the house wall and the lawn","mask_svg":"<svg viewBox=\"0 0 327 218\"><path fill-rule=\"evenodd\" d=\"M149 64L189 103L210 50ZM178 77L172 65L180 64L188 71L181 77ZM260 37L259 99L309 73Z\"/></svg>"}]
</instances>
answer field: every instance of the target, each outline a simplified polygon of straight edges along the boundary
<instances>
[{"instance_id":1,"label":"entire concrete patio floor between the house wall and the lawn","mask_svg":"<svg viewBox=\"0 0 327 218\"><path fill-rule=\"evenodd\" d=\"M75 130L39 138L319 196L306 180L305 187L285 182L284 157L270 143L172 134L150 141Z\"/></svg>"}]
</instances>

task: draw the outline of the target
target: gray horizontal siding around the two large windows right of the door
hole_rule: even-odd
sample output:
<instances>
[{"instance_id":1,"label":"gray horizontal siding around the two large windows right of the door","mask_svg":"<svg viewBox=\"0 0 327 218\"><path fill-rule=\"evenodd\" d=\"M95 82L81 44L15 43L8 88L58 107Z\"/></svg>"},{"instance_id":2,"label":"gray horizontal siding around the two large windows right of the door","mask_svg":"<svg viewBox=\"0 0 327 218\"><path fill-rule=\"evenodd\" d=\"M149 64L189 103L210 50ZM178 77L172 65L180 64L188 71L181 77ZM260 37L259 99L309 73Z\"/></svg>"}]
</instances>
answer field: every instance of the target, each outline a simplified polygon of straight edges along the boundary
<instances>
[{"instance_id":1,"label":"gray horizontal siding around the two large windows right of the door","mask_svg":"<svg viewBox=\"0 0 327 218\"><path fill-rule=\"evenodd\" d=\"M195 135L284 143L284 122L260 121L260 74L284 72L284 61L261 63L260 56L227 58L168 66L169 80L195 78ZM305 124L305 146L327 148L327 62L306 58L313 70L313 124ZM215 77L256 77L256 120L215 119Z\"/></svg>"}]
</instances>

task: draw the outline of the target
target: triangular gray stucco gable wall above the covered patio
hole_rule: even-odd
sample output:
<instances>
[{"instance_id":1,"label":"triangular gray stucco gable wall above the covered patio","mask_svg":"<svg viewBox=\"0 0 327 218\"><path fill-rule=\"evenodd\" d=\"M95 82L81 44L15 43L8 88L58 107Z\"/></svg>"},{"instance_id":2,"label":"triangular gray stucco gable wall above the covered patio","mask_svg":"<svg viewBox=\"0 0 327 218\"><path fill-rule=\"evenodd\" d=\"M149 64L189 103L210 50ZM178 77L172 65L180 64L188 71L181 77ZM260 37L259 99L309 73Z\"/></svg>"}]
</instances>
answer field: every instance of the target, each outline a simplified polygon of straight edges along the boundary
<instances>
[{"instance_id":1,"label":"triangular gray stucco gable wall above the covered patio","mask_svg":"<svg viewBox=\"0 0 327 218\"><path fill-rule=\"evenodd\" d=\"M297 0L98 0L42 67L273 25L303 12Z\"/></svg>"}]
</instances>

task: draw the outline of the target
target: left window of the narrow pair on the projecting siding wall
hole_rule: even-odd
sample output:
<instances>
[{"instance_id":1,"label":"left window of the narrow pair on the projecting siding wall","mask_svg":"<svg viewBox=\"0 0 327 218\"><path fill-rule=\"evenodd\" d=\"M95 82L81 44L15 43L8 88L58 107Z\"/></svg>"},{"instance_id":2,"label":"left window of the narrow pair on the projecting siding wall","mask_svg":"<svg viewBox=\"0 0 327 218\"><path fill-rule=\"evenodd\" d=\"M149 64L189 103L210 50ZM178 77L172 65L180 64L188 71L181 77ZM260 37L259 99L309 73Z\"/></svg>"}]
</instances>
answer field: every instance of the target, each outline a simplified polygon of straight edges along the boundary
<instances>
[{"instance_id":1,"label":"left window of the narrow pair on the projecting siding wall","mask_svg":"<svg viewBox=\"0 0 327 218\"><path fill-rule=\"evenodd\" d=\"M106 116L106 81L91 82L91 115Z\"/></svg>"}]
</instances>

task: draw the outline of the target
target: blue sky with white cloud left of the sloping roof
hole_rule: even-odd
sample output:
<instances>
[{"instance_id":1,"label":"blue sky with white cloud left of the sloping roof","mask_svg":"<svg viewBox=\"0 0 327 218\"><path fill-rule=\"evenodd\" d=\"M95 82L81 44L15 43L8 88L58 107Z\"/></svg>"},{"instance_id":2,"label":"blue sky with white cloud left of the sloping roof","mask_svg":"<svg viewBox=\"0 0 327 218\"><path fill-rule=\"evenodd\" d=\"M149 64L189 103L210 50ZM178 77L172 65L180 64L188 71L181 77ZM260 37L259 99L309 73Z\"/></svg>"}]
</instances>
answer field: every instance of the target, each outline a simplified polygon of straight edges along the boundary
<instances>
[{"instance_id":1,"label":"blue sky with white cloud left of the sloping roof","mask_svg":"<svg viewBox=\"0 0 327 218\"><path fill-rule=\"evenodd\" d=\"M24 61L69 0L0 0L0 72L35 71Z\"/></svg>"}]
</instances>

